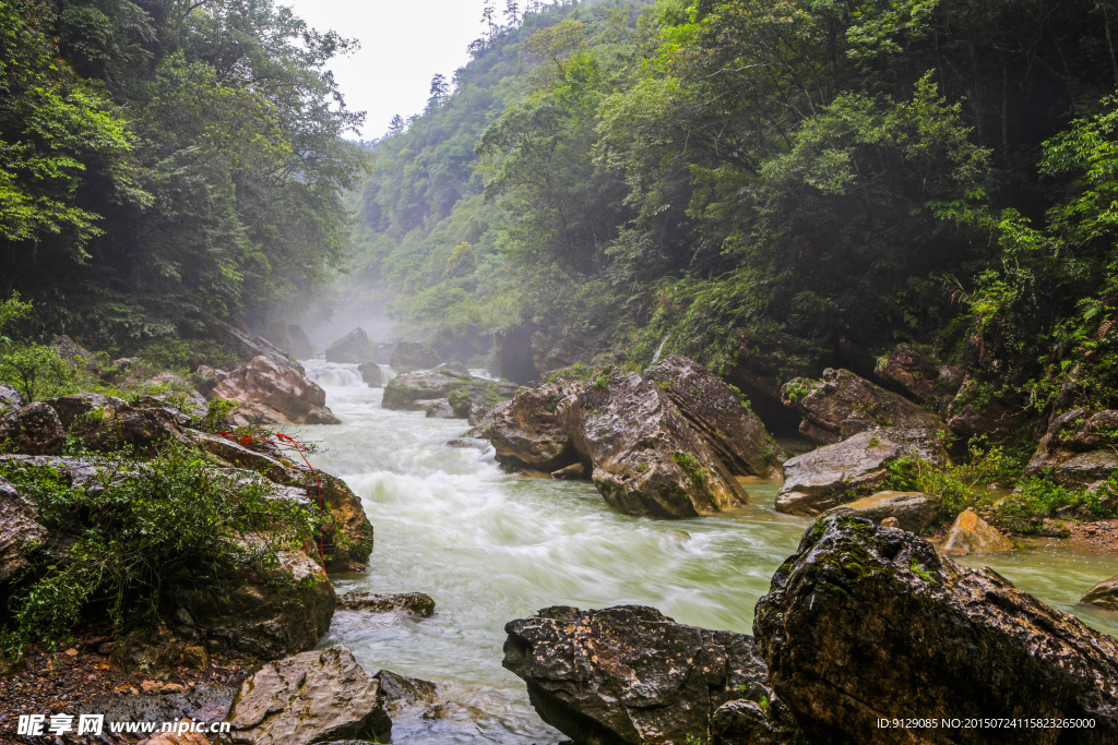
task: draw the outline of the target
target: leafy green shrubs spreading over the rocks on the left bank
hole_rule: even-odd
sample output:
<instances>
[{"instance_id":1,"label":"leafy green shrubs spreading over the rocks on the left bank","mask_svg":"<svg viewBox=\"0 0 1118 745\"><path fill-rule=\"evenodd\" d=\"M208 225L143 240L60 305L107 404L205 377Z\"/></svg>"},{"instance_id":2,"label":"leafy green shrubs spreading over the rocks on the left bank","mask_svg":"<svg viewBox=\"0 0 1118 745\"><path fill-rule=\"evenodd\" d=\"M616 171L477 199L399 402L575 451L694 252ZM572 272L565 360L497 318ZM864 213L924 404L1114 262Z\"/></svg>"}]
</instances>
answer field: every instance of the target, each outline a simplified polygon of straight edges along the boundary
<instances>
[{"instance_id":1,"label":"leafy green shrubs spreading over the rocks on the left bank","mask_svg":"<svg viewBox=\"0 0 1118 745\"><path fill-rule=\"evenodd\" d=\"M158 619L176 588L220 592L238 566L267 580L277 552L316 527L311 513L271 498L264 481L218 470L187 448L145 461L116 453L98 467L77 487L50 468L0 464L42 525L68 538L42 547L12 594L10 643L61 642L95 615L116 629Z\"/></svg>"}]
</instances>

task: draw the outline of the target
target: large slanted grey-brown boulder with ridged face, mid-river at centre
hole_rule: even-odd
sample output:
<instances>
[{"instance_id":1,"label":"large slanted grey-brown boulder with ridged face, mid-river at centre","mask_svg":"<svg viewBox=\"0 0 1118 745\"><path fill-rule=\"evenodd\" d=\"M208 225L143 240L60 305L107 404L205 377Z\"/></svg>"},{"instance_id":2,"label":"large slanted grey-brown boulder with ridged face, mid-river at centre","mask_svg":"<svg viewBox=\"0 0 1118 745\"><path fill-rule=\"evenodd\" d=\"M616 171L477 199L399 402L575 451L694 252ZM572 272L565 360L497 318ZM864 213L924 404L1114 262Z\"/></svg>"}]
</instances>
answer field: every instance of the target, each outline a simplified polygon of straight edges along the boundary
<instances>
[{"instance_id":1,"label":"large slanted grey-brown boulder with ridged face, mid-river at centre","mask_svg":"<svg viewBox=\"0 0 1118 745\"><path fill-rule=\"evenodd\" d=\"M627 515L695 517L746 503L714 450L657 383L616 369L557 403L606 503Z\"/></svg>"}]
</instances>

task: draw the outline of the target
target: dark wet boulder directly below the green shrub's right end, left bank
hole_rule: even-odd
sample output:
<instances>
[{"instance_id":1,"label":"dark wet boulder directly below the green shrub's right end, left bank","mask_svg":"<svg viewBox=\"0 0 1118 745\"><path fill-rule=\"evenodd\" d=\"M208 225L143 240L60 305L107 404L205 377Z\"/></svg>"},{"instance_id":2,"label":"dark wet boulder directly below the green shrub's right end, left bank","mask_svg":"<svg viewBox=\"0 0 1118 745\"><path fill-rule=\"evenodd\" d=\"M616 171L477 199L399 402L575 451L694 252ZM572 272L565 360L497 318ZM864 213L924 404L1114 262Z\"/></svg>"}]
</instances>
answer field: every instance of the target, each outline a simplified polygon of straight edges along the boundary
<instances>
[{"instance_id":1,"label":"dark wet boulder directly below the green shrub's right end, left bank","mask_svg":"<svg viewBox=\"0 0 1118 745\"><path fill-rule=\"evenodd\" d=\"M246 547L253 543L249 539ZM271 576L229 566L222 573L221 592L179 588L179 620L200 636L260 659L312 649L330 628L334 589L305 552L287 550L278 556Z\"/></svg>"}]
</instances>

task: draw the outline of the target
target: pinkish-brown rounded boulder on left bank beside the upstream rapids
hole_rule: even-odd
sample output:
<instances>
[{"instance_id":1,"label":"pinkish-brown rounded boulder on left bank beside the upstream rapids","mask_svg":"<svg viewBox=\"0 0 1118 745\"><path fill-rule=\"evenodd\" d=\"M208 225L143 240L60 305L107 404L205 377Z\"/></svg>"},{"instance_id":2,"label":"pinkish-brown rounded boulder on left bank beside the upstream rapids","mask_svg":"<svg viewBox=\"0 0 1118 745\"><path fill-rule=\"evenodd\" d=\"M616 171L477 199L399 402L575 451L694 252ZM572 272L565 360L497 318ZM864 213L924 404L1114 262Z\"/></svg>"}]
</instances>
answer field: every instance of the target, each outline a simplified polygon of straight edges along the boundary
<instances>
[{"instance_id":1,"label":"pinkish-brown rounded boulder on left bank beside the upstream rapids","mask_svg":"<svg viewBox=\"0 0 1118 745\"><path fill-rule=\"evenodd\" d=\"M263 355L221 375L207 398L265 405L281 414L284 422L295 424L341 423L326 408L326 392L316 383L294 367Z\"/></svg>"}]
</instances>

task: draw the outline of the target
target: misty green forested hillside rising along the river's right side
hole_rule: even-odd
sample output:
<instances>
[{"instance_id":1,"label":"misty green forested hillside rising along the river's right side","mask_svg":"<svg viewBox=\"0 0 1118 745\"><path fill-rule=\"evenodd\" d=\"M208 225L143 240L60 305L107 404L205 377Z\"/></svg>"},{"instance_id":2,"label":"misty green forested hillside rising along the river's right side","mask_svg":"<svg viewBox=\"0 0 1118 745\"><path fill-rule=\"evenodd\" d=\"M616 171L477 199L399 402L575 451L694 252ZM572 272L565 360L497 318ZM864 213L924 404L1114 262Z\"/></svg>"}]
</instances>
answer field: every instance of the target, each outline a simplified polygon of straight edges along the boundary
<instances>
[{"instance_id":1,"label":"misty green forested hillside rising along the river's right side","mask_svg":"<svg viewBox=\"0 0 1118 745\"><path fill-rule=\"evenodd\" d=\"M662 347L760 389L910 343L982 404L1116 403L1118 3L529 10L379 143L348 297L524 379Z\"/></svg>"}]
</instances>

